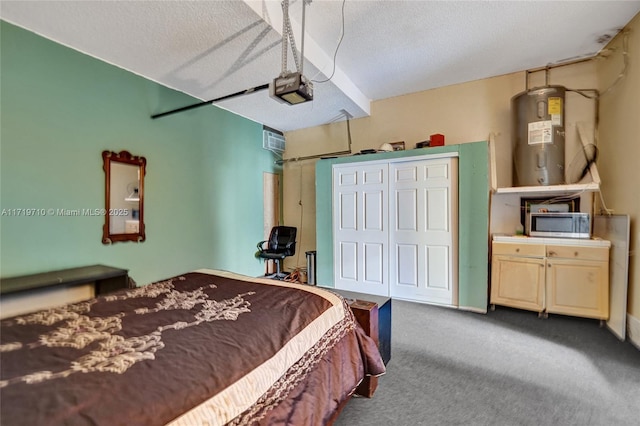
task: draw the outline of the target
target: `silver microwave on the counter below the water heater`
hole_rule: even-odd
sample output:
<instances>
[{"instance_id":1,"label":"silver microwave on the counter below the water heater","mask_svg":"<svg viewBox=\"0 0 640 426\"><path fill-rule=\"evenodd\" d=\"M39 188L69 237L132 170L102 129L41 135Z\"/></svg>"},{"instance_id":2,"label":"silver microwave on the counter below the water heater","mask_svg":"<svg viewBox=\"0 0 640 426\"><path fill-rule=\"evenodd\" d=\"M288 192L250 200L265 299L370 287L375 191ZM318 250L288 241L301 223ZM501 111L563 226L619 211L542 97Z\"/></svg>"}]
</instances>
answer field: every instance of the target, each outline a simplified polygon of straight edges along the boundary
<instances>
[{"instance_id":1,"label":"silver microwave on the counter below the water heater","mask_svg":"<svg viewBox=\"0 0 640 426\"><path fill-rule=\"evenodd\" d=\"M529 236L591 238L589 213L531 213Z\"/></svg>"}]
</instances>

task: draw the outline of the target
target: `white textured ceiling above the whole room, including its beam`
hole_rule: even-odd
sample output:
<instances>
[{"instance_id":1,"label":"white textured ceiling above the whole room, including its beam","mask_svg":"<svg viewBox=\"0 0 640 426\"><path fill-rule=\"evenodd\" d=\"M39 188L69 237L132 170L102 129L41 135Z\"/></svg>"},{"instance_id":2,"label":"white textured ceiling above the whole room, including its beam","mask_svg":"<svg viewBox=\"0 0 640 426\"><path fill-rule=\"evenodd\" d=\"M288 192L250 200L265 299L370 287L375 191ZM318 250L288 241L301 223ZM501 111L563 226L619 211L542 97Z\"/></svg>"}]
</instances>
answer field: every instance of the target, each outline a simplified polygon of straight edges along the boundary
<instances>
[{"instance_id":1,"label":"white textured ceiling above the whole room, including its beam","mask_svg":"<svg viewBox=\"0 0 640 426\"><path fill-rule=\"evenodd\" d=\"M298 48L301 5L291 0ZM340 0L306 8L313 80L332 75L342 9ZM362 117L372 100L594 55L639 11L640 1L346 0L335 73L314 85L313 102L289 106L260 91L219 105L282 131L343 111ZM203 101L269 83L282 68L279 0L2 0L0 17Z\"/></svg>"}]
</instances>

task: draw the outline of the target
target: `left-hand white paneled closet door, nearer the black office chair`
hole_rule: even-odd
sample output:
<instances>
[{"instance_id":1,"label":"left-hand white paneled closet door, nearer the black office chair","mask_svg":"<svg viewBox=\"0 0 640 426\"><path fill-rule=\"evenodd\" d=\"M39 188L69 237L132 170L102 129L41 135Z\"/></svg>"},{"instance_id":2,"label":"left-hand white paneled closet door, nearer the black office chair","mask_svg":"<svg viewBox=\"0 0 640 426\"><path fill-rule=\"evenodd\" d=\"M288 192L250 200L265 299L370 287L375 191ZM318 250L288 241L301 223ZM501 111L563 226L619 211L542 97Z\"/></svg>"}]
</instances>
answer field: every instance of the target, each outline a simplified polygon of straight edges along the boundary
<instances>
[{"instance_id":1,"label":"left-hand white paneled closet door, nearer the black office chair","mask_svg":"<svg viewBox=\"0 0 640 426\"><path fill-rule=\"evenodd\" d=\"M334 282L341 290L389 295L388 164L333 169Z\"/></svg>"}]
</instances>

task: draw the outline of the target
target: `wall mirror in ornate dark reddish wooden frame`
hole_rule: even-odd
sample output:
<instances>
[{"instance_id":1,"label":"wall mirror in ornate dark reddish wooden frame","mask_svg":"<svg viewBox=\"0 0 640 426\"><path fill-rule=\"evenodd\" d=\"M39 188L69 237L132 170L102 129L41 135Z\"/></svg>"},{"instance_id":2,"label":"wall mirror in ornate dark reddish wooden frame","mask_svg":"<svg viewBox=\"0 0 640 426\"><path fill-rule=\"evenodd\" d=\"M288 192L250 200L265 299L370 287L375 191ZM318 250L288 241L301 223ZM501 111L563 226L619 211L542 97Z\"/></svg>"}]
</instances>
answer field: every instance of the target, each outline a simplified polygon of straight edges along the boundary
<instances>
[{"instance_id":1,"label":"wall mirror in ornate dark reddish wooden frame","mask_svg":"<svg viewBox=\"0 0 640 426\"><path fill-rule=\"evenodd\" d=\"M145 240L144 175L147 160L128 151L102 152L105 219L102 243Z\"/></svg>"}]
</instances>

